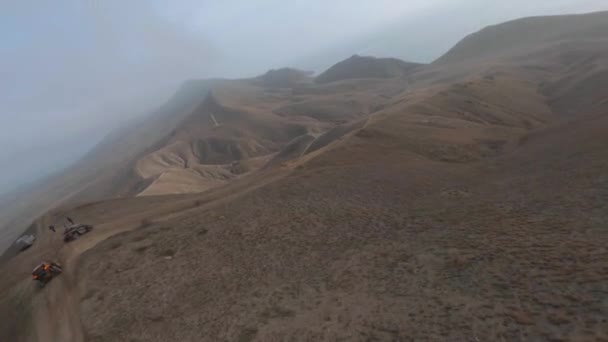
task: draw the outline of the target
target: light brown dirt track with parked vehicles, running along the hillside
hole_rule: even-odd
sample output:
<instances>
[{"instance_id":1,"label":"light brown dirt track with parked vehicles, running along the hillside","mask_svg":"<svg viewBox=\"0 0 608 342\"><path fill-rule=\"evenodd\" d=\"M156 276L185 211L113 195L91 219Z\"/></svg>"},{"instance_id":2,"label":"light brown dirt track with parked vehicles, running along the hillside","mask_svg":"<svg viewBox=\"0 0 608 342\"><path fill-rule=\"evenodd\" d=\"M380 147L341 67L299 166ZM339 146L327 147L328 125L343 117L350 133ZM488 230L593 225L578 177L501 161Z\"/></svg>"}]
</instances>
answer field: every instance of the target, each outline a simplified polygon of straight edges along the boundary
<instances>
[{"instance_id":1,"label":"light brown dirt track with parked vehicles, running along the hillside","mask_svg":"<svg viewBox=\"0 0 608 342\"><path fill-rule=\"evenodd\" d=\"M270 172L264 180L234 182L205 194L146 196L92 203L67 211L54 210L40 218L31 231L37 236L34 246L0 265L0 271L6 275L1 283L0 304L7 308L3 312L4 317L0 317L3 322L0 336L7 336L11 341L28 342L86 340L80 312L80 302L87 291L80 281L87 272L79 268L83 253L112 236L187 215L190 211L212 205L218 199L221 203L276 180L277 176L281 174ZM92 224L94 228L66 244L62 240L61 228L57 233L48 230L50 224L57 225L65 216ZM111 255L108 257L112 258ZM43 260L60 262L63 272L39 289L29 272ZM10 324L14 320L18 324Z\"/></svg>"}]
</instances>

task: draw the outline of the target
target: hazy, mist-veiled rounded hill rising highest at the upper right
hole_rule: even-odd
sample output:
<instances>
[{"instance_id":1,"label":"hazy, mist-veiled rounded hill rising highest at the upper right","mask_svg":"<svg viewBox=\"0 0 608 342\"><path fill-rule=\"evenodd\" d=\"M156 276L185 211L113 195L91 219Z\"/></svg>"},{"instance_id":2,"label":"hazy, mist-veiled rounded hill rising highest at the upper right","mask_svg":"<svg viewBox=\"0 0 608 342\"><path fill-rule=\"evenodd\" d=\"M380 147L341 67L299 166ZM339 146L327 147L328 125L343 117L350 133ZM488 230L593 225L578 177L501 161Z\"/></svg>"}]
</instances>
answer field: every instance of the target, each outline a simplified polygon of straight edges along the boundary
<instances>
[{"instance_id":1,"label":"hazy, mist-veiled rounded hill rising highest at the upper right","mask_svg":"<svg viewBox=\"0 0 608 342\"><path fill-rule=\"evenodd\" d=\"M426 86L457 82L472 73L492 77L507 72L541 87L554 111L575 115L605 101L601 84L608 81L607 31L608 12L490 26L463 39L410 82Z\"/></svg>"}]
</instances>

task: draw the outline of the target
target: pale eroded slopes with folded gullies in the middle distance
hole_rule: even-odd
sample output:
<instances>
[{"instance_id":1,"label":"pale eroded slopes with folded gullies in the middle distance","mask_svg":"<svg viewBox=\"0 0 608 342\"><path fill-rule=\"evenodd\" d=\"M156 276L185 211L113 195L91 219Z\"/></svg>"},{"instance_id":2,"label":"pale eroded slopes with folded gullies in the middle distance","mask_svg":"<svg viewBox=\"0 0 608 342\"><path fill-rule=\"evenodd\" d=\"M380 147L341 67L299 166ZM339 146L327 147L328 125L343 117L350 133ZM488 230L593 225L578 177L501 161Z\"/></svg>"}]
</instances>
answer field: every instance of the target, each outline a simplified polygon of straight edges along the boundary
<instances>
[{"instance_id":1,"label":"pale eroded slopes with folded gullies in the middle distance","mask_svg":"<svg viewBox=\"0 0 608 342\"><path fill-rule=\"evenodd\" d=\"M259 80L212 87L160 148L138 159L135 173L148 184L139 195L201 192L262 169L271 159L297 158L288 151L296 141L314 140L340 123L369 115L386 101L385 93L402 89L386 82L360 90L365 82L359 81L335 89L298 82L281 88Z\"/></svg>"}]
</instances>

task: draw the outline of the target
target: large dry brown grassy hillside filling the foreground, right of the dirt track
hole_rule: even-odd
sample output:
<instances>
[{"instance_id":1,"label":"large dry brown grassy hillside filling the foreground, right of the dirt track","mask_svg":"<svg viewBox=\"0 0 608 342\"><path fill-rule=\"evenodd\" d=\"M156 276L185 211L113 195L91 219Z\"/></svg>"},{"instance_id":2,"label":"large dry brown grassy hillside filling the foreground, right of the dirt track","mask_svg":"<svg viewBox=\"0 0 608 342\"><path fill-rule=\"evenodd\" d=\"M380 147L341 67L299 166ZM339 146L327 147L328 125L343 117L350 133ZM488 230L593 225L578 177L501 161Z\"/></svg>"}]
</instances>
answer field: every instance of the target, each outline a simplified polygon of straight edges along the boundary
<instances>
[{"instance_id":1,"label":"large dry brown grassy hillside filling the foreground, right of the dirt track","mask_svg":"<svg viewBox=\"0 0 608 342\"><path fill-rule=\"evenodd\" d=\"M601 340L607 125L457 164L355 135L88 252L83 327L93 341Z\"/></svg>"}]
</instances>

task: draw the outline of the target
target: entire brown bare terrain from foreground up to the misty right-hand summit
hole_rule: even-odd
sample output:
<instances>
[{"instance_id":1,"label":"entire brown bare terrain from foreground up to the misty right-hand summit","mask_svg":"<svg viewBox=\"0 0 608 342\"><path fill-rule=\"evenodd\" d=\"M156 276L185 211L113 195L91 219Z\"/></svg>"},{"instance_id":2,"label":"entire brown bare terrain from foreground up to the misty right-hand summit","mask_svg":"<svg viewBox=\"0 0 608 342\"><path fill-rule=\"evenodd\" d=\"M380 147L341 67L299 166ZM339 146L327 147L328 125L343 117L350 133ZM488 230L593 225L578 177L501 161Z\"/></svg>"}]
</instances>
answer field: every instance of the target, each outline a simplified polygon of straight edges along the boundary
<instances>
[{"instance_id":1,"label":"entire brown bare terrain from foreground up to the misty right-hand summit","mask_svg":"<svg viewBox=\"0 0 608 342\"><path fill-rule=\"evenodd\" d=\"M36 222L0 339L607 340L606 22L506 23L400 77L215 84L130 160L140 196ZM97 227L63 246L63 214ZM42 257L66 272L34 291Z\"/></svg>"}]
</instances>

